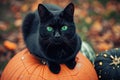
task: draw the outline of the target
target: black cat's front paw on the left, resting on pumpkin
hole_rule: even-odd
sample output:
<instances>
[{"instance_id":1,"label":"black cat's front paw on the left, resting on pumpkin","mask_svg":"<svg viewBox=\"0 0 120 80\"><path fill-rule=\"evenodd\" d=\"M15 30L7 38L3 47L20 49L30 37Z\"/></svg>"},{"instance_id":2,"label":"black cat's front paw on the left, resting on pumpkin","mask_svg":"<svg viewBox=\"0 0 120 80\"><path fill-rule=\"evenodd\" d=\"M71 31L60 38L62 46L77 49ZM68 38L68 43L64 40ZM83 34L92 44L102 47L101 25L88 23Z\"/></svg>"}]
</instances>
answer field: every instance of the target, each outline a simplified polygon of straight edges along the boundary
<instances>
[{"instance_id":1,"label":"black cat's front paw on the left, resting on pumpkin","mask_svg":"<svg viewBox=\"0 0 120 80\"><path fill-rule=\"evenodd\" d=\"M50 71L53 72L54 74L58 74L60 72L59 64L49 63L48 66L49 66Z\"/></svg>"}]
</instances>

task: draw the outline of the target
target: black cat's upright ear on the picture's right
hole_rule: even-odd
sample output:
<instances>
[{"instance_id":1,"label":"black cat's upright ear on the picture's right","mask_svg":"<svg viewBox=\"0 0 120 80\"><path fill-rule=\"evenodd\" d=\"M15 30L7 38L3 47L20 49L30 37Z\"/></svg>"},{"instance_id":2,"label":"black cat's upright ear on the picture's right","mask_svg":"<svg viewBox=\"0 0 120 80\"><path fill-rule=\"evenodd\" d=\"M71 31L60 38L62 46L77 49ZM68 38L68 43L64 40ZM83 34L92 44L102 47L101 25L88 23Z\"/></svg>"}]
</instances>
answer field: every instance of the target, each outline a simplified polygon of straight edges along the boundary
<instances>
[{"instance_id":1,"label":"black cat's upright ear on the picture's right","mask_svg":"<svg viewBox=\"0 0 120 80\"><path fill-rule=\"evenodd\" d=\"M67 21L73 21L74 16L74 4L68 4L62 12L62 17L65 18Z\"/></svg>"}]
</instances>

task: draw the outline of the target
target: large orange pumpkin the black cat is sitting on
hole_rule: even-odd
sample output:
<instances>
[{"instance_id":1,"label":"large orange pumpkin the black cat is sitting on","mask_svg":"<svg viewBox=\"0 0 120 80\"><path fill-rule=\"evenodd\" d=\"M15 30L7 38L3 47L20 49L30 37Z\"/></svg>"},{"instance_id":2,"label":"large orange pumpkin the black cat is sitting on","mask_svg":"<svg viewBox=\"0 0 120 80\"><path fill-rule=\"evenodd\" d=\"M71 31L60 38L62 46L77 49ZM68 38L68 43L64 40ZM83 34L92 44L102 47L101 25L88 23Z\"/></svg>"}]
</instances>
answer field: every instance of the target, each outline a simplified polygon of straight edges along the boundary
<instances>
[{"instance_id":1,"label":"large orange pumpkin the black cat is sitting on","mask_svg":"<svg viewBox=\"0 0 120 80\"><path fill-rule=\"evenodd\" d=\"M43 65L27 49L16 54L4 69L1 80L98 80L91 62L79 53L76 57L77 65L70 70L61 64L59 74L50 72L47 65Z\"/></svg>"}]
</instances>

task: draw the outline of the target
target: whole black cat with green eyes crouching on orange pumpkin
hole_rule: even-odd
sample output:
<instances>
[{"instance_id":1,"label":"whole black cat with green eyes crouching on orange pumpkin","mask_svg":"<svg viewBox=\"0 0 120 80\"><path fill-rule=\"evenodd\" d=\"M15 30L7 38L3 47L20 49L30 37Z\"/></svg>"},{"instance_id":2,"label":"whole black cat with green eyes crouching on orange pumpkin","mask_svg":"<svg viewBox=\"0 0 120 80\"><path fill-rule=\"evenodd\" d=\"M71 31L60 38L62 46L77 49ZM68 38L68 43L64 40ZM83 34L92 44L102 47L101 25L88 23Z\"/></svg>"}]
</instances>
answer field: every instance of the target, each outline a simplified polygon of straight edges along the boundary
<instances>
[{"instance_id":1,"label":"whole black cat with green eyes crouching on orange pumpkin","mask_svg":"<svg viewBox=\"0 0 120 80\"><path fill-rule=\"evenodd\" d=\"M39 4L38 10L29 13L23 21L24 41L31 54L46 61L49 69L57 74L60 64L74 69L75 57L81 48L76 34L74 5L65 9L50 4Z\"/></svg>"}]
</instances>

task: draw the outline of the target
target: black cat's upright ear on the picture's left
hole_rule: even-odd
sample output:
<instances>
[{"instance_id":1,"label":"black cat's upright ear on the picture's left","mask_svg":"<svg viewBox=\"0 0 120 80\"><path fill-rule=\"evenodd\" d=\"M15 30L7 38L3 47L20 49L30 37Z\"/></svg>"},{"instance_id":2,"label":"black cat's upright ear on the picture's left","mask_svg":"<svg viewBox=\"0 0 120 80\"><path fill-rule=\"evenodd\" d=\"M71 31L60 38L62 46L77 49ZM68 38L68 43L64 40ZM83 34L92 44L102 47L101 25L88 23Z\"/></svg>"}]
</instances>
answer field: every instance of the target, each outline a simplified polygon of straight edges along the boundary
<instances>
[{"instance_id":1,"label":"black cat's upright ear on the picture's left","mask_svg":"<svg viewBox=\"0 0 120 80\"><path fill-rule=\"evenodd\" d=\"M48 11L48 9L43 4L38 5L38 13L41 22L47 21L52 17L52 13Z\"/></svg>"}]
</instances>

